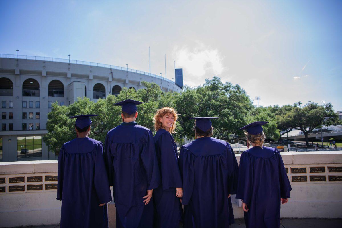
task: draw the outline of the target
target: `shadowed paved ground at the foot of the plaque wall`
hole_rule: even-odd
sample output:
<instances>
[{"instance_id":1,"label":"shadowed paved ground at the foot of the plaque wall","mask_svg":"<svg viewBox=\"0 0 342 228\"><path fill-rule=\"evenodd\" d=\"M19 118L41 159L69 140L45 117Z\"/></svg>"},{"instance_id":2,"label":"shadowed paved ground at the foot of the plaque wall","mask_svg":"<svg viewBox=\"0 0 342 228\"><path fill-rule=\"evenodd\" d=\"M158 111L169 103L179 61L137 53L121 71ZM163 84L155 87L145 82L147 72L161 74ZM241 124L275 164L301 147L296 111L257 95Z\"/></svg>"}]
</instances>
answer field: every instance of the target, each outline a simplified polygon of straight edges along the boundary
<instances>
[{"instance_id":1,"label":"shadowed paved ground at the foot of the plaque wall","mask_svg":"<svg viewBox=\"0 0 342 228\"><path fill-rule=\"evenodd\" d=\"M245 228L243 219L235 219L230 228ZM26 226L26 228L60 228L60 225ZM342 228L342 219L281 219L279 228Z\"/></svg>"}]
</instances>

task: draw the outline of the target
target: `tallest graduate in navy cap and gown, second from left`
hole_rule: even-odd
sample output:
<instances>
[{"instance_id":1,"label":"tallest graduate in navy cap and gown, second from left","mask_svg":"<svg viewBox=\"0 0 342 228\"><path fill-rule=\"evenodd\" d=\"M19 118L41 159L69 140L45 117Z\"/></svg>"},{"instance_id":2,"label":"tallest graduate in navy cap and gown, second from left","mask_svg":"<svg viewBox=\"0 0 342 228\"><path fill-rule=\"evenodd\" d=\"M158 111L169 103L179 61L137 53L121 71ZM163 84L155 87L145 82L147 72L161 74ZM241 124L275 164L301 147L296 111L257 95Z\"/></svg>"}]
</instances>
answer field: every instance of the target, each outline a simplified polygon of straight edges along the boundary
<instances>
[{"instance_id":1,"label":"tallest graduate in navy cap and gown, second from left","mask_svg":"<svg viewBox=\"0 0 342 228\"><path fill-rule=\"evenodd\" d=\"M106 166L116 207L116 227L153 227L153 189L160 185L160 174L152 132L135 122L135 100L122 106L123 122L107 133Z\"/></svg>"}]
</instances>

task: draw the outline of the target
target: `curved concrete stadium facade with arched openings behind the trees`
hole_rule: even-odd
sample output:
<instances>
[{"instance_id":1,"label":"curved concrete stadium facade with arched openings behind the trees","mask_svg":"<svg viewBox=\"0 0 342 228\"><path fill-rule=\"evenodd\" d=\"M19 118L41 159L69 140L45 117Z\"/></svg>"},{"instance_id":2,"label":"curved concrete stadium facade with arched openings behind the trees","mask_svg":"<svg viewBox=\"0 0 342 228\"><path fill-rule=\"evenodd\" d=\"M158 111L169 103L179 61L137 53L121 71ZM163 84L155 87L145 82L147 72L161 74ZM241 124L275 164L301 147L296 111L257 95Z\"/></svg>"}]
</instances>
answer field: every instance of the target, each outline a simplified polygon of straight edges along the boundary
<instances>
[{"instance_id":1,"label":"curved concrete stadium facade with arched openings behind the trees","mask_svg":"<svg viewBox=\"0 0 342 228\"><path fill-rule=\"evenodd\" d=\"M56 101L69 105L86 96L96 102L108 94L117 95L123 87L142 89L142 81L155 82L165 92L182 91L173 81L144 71L83 61L69 63L68 59L26 58L0 57L2 162L56 159L42 141L48 113Z\"/></svg>"}]
</instances>

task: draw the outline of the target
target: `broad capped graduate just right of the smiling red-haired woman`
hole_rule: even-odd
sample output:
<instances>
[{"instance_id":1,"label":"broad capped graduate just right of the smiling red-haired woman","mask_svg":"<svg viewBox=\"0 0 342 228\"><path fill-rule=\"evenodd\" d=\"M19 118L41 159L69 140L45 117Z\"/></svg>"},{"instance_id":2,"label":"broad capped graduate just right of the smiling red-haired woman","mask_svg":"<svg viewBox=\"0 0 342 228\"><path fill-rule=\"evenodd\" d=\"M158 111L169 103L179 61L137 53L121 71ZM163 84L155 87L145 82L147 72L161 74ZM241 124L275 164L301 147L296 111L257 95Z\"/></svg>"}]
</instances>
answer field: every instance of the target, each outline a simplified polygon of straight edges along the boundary
<instances>
[{"instance_id":1,"label":"broad capped graduate just right of the smiling red-haired woman","mask_svg":"<svg viewBox=\"0 0 342 228\"><path fill-rule=\"evenodd\" d=\"M181 148L184 227L229 227L234 223L230 195L236 193L239 168L229 143L211 137L212 118L191 118L196 119L196 139Z\"/></svg>"}]
</instances>

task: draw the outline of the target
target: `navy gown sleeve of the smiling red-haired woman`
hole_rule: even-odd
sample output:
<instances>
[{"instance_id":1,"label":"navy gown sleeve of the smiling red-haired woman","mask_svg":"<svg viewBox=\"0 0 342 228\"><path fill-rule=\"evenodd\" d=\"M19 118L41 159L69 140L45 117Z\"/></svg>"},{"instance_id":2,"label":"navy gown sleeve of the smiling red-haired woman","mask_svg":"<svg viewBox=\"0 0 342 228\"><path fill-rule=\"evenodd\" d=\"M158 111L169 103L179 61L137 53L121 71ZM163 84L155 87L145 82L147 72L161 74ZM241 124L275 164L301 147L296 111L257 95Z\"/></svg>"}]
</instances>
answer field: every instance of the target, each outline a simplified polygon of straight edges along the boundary
<instances>
[{"instance_id":1,"label":"navy gown sleeve of the smiling red-haired woman","mask_svg":"<svg viewBox=\"0 0 342 228\"><path fill-rule=\"evenodd\" d=\"M163 133L158 139L160 150L160 173L163 189L182 188L182 178L179 172L177 151L174 151L174 141L170 133Z\"/></svg>"}]
</instances>

